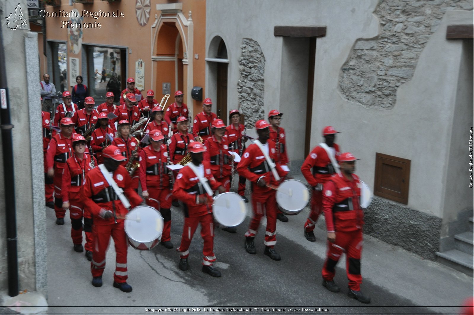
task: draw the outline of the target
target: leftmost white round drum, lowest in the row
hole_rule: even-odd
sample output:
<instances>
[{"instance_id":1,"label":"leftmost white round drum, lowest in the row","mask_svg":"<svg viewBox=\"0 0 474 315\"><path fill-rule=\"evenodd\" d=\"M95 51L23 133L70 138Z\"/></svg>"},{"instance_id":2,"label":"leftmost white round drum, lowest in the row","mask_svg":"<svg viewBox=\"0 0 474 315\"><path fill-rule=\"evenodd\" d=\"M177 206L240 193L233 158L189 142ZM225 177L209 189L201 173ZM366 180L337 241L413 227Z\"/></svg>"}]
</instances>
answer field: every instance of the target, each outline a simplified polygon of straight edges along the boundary
<instances>
[{"instance_id":1,"label":"leftmost white round drum, lowest in the row","mask_svg":"<svg viewBox=\"0 0 474 315\"><path fill-rule=\"evenodd\" d=\"M136 250L151 250L161 240L164 221L153 207L139 205L125 216L125 233L128 243Z\"/></svg>"}]
</instances>

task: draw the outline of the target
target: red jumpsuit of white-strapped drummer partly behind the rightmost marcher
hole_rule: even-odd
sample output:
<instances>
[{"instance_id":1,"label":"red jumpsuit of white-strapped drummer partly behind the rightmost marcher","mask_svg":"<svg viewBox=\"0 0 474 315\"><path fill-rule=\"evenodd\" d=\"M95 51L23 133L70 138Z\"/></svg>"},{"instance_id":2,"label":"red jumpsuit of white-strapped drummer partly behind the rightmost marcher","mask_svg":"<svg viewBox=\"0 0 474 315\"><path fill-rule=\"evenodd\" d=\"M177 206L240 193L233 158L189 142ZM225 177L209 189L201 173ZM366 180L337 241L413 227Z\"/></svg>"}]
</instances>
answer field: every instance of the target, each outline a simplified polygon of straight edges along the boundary
<instances>
[{"instance_id":1,"label":"red jumpsuit of white-strapped drummer partly behind the rightmost marcher","mask_svg":"<svg viewBox=\"0 0 474 315\"><path fill-rule=\"evenodd\" d=\"M339 146L334 143L335 159L341 153ZM332 166L331 160L328 157L326 150L317 146L310 154L306 157L301 166L301 173L308 184L312 187L316 187L318 184L324 185L324 183L331 177L336 171ZM314 225L318 221L319 214L322 212L322 191L314 190L311 196L310 203L310 215L304 224L306 232L314 230Z\"/></svg>"}]
</instances>

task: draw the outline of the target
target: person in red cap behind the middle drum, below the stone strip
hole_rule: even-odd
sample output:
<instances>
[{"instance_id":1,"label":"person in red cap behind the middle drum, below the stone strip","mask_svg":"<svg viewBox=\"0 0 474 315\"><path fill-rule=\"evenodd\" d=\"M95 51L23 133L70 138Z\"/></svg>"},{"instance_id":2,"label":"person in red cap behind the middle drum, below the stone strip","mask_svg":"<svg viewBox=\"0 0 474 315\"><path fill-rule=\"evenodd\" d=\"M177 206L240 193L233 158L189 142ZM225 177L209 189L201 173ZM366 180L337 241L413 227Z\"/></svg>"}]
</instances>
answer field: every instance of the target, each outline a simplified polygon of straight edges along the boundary
<instances>
[{"instance_id":1,"label":"person in red cap behind the middle drum, below the stone strip","mask_svg":"<svg viewBox=\"0 0 474 315\"><path fill-rule=\"evenodd\" d=\"M244 152L244 148L242 148L242 137L244 132L244 125L240 123L240 113L237 110L232 110L229 113L229 121L231 124L226 127L226 135L227 140L229 142L229 148L232 148L231 151L240 154L240 151ZM244 142L247 142L247 138L244 138ZM243 154L243 153L242 153ZM237 167L237 166L236 166ZM248 199L245 196L245 182L246 178L244 176L238 177L238 189L237 192L242 198L248 203Z\"/></svg>"}]
</instances>

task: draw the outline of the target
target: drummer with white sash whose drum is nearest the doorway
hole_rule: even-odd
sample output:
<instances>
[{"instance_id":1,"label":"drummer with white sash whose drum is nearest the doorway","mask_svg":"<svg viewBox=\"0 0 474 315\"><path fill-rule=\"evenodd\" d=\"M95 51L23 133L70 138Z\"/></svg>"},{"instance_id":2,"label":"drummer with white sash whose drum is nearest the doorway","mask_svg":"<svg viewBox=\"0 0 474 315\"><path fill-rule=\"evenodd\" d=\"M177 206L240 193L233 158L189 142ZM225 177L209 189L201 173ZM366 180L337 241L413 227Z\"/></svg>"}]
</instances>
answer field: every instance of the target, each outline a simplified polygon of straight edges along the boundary
<instances>
[{"instance_id":1,"label":"drummer with white sash whose drum is nearest the doorway","mask_svg":"<svg viewBox=\"0 0 474 315\"><path fill-rule=\"evenodd\" d=\"M255 254L254 238L262 216L266 215L267 224L265 230L264 254L273 260L280 260L280 255L273 249L276 244L276 191L269 186L279 185L280 177L286 176L279 163L273 163L276 159L275 144L268 141L270 138L270 124L265 120L258 120L255 128L258 139L255 140L245 151L242 160L237 164L239 175L246 177L252 182L252 208L254 216L250 221L248 231L245 233L245 249L249 254Z\"/></svg>"}]
</instances>

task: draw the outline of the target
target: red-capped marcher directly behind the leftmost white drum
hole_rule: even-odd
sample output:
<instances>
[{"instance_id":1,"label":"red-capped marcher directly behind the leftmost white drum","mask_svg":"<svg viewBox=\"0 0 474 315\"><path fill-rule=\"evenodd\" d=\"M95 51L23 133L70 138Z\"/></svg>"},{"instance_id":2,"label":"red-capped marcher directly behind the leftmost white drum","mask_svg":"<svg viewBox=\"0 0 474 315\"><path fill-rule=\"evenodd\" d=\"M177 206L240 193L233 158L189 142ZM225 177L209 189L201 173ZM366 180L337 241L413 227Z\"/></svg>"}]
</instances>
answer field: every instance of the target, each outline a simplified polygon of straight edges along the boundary
<instances>
[{"instance_id":1,"label":"red-capped marcher directly behind the leftmost white drum","mask_svg":"<svg viewBox=\"0 0 474 315\"><path fill-rule=\"evenodd\" d=\"M142 195L146 204L154 207L163 216L164 228L160 244L173 248L171 242L171 187L168 168L166 167L168 153L163 145L164 136L159 130L149 133L150 145L140 152L139 176L142 185Z\"/></svg>"}]
</instances>

